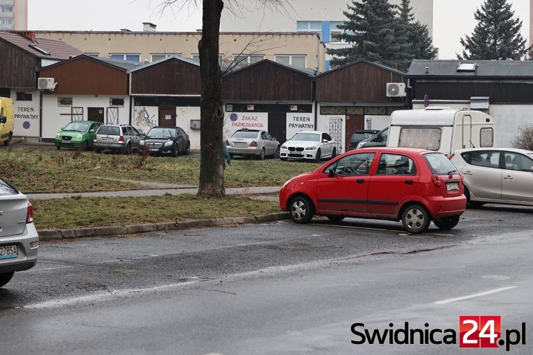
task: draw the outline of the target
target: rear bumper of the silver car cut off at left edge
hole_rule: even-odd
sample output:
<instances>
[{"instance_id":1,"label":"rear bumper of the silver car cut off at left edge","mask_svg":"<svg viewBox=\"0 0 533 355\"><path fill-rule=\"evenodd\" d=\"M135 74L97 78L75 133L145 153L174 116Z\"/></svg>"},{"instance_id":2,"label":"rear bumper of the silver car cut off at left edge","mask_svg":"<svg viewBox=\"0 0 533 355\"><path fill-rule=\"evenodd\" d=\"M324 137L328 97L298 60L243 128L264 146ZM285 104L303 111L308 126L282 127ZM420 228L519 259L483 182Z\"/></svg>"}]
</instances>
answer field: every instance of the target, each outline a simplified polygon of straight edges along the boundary
<instances>
[{"instance_id":1,"label":"rear bumper of the silver car cut off at left edge","mask_svg":"<svg viewBox=\"0 0 533 355\"><path fill-rule=\"evenodd\" d=\"M37 263L37 249L30 247L30 243L39 241L39 235L33 223L27 224L22 234L16 236L0 236L0 246L17 245L18 257L0 259L0 273L22 271L33 268Z\"/></svg>"}]
</instances>

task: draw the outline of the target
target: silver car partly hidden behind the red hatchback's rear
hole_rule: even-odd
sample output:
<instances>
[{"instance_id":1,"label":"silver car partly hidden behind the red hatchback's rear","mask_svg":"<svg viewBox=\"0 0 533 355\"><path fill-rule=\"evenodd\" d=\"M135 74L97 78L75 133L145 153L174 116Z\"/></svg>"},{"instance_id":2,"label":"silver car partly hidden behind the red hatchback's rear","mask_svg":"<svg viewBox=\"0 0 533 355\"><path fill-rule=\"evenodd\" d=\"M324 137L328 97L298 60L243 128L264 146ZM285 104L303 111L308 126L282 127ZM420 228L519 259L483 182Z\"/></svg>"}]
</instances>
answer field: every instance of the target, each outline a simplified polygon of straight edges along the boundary
<instances>
[{"instance_id":1,"label":"silver car partly hidden behind the red hatchback's rear","mask_svg":"<svg viewBox=\"0 0 533 355\"><path fill-rule=\"evenodd\" d=\"M471 206L484 203L533 206L533 151L460 149L450 160L464 178L464 194Z\"/></svg>"}]
</instances>

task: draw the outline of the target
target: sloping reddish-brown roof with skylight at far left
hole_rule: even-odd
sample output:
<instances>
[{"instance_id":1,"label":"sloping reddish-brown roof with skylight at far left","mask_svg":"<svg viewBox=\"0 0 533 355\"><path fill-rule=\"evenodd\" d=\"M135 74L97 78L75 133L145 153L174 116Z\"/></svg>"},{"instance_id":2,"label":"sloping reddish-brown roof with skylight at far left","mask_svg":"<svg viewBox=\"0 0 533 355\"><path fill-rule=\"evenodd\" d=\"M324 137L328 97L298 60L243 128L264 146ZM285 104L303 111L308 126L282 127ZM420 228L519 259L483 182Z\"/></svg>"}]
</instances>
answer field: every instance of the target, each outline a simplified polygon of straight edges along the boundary
<instances>
[{"instance_id":1,"label":"sloping reddish-brown roof with skylight at far left","mask_svg":"<svg viewBox=\"0 0 533 355\"><path fill-rule=\"evenodd\" d=\"M78 49L74 48L69 44L66 44L65 42L47 40L44 38L37 38L34 42L30 38L24 35L19 35L18 33L0 32L0 39L5 40L6 42L9 42L15 46L18 46L19 48L24 49L24 51L30 53L31 55L42 59L65 60L76 55L83 54L83 52L79 51ZM37 49L30 46L31 44L37 46L38 48L49 54L38 51Z\"/></svg>"}]
</instances>

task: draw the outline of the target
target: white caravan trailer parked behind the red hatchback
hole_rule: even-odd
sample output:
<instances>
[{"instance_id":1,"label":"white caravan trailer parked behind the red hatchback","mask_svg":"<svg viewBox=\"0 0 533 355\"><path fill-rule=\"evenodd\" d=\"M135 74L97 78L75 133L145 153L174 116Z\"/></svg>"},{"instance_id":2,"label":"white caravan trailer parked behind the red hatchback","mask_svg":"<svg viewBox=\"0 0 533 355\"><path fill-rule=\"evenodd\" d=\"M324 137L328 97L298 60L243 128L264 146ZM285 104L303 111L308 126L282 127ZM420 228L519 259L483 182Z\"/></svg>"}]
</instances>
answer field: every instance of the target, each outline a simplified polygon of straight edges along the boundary
<instances>
[{"instance_id":1,"label":"white caravan trailer parked behind the red hatchback","mask_svg":"<svg viewBox=\"0 0 533 355\"><path fill-rule=\"evenodd\" d=\"M426 107L392 112L387 146L452 155L457 149L494 145L494 119L481 111Z\"/></svg>"}]
</instances>

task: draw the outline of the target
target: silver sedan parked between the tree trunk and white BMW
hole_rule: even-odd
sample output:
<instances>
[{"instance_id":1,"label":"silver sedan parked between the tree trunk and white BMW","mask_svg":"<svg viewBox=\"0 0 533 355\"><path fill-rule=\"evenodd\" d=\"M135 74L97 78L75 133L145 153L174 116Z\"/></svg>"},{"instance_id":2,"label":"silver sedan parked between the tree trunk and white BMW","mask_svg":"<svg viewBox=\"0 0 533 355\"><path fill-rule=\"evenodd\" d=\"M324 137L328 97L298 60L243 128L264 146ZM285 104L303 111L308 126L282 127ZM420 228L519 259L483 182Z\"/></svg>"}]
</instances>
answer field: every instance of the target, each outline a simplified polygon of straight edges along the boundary
<instances>
[{"instance_id":1,"label":"silver sedan parked between the tree trunk and white BMW","mask_svg":"<svg viewBox=\"0 0 533 355\"><path fill-rule=\"evenodd\" d=\"M251 155L257 159L264 159L267 155L280 156L280 142L273 138L266 130L237 130L226 139L226 146L230 157L233 155Z\"/></svg>"}]
</instances>

